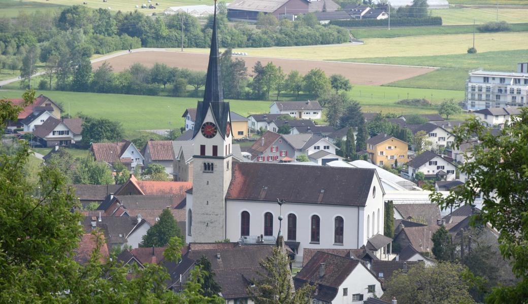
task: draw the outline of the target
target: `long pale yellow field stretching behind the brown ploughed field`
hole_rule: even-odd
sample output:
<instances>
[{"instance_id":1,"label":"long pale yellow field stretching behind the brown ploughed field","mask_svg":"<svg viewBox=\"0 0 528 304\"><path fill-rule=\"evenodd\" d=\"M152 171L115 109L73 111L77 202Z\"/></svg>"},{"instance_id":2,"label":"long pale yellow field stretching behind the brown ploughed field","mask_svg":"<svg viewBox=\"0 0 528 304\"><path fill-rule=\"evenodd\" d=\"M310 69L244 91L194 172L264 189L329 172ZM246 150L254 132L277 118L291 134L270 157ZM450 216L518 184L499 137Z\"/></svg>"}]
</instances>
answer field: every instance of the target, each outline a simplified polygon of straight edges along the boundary
<instances>
[{"instance_id":1,"label":"long pale yellow field stretching behind the brown ploughed field","mask_svg":"<svg viewBox=\"0 0 528 304\"><path fill-rule=\"evenodd\" d=\"M478 52L523 50L525 32L476 34ZM435 56L466 54L473 43L473 34L410 36L398 38L370 38L363 45L336 45L310 47L237 48L249 56L298 58L314 60L341 60L343 58L370 58L395 56ZM206 49L188 49L190 52L209 52Z\"/></svg>"}]
</instances>

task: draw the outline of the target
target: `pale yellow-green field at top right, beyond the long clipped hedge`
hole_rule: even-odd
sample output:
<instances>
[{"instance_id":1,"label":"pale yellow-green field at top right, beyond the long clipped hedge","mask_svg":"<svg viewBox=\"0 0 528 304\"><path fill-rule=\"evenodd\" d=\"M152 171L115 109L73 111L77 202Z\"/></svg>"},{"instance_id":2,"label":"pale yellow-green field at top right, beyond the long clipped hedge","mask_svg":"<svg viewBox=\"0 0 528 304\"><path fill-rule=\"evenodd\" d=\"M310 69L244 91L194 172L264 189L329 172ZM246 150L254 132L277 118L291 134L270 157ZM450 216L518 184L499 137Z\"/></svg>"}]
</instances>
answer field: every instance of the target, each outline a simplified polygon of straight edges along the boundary
<instances>
[{"instance_id":1,"label":"pale yellow-green field at top right, beyond the long clipped hedge","mask_svg":"<svg viewBox=\"0 0 528 304\"><path fill-rule=\"evenodd\" d=\"M497 20L496 8L459 8L450 7L448 9L431 9L432 16L442 17L442 25L461 25L483 24L487 22L495 22ZM507 23L524 23L528 16L528 7L526 8L504 8L500 7L498 10L498 21L506 21Z\"/></svg>"}]
</instances>

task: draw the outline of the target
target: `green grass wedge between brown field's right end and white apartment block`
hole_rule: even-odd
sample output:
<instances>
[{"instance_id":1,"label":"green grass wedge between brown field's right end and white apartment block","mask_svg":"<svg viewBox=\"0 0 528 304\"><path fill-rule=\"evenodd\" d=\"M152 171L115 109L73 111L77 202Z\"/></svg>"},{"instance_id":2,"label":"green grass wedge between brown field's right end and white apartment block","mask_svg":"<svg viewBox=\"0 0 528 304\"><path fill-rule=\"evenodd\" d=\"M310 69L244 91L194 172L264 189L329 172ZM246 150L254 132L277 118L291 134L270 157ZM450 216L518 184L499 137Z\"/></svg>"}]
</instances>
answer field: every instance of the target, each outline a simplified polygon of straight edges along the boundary
<instances>
[{"instance_id":1,"label":"green grass wedge between brown field's right end and white apartment block","mask_svg":"<svg viewBox=\"0 0 528 304\"><path fill-rule=\"evenodd\" d=\"M440 68L427 74L391 82L385 86L464 91L467 78L468 71L465 68Z\"/></svg>"}]
</instances>

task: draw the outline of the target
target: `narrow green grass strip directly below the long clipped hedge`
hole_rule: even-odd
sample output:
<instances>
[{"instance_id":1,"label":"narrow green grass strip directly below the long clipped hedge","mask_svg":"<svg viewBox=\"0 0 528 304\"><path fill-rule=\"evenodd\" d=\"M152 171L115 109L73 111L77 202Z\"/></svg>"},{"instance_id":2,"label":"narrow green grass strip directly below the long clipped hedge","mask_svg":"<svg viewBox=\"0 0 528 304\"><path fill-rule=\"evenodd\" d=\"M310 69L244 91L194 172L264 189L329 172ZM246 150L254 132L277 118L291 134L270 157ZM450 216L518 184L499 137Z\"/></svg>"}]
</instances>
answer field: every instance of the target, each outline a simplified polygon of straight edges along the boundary
<instances>
[{"instance_id":1,"label":"narrow green grass strip directly below the long clipped hedge","mask_svg":"<svg viewBox=\"0 0 528 304\"><path fill-rule=\"evenodd\" d=\"M528 23L516 23L511 26L512 32L528 32ZM352 28L350 31L357 39L394 38L405 36L468 34L473 33L473 25L393 27L390 30L387 28Z\"/></svg>"}]
</instances>

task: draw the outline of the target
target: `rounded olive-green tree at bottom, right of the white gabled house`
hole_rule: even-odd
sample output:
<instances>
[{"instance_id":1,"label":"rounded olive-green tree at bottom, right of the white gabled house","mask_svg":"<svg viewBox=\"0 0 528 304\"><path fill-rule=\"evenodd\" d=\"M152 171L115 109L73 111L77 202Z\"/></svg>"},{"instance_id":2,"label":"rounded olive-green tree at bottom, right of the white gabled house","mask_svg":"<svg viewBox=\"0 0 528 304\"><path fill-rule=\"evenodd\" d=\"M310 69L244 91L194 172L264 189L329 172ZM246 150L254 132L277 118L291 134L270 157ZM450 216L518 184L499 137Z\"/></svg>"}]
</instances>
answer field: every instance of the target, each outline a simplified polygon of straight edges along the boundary
<instances>
[{"instance_id":1,"label":"rounded olive-green tree at bottom, right of the white gabled house","mask_svg":"<svg viewBox=\"0 0 528 304\"><path fill-rule=\"evenodd\" d=\"M407 272L395 271L385 292L406 304L475 303L469 295L468 282L461 276L465 270L450 262L427 268L420 263Z\"/></svg>"}]
</instances>

